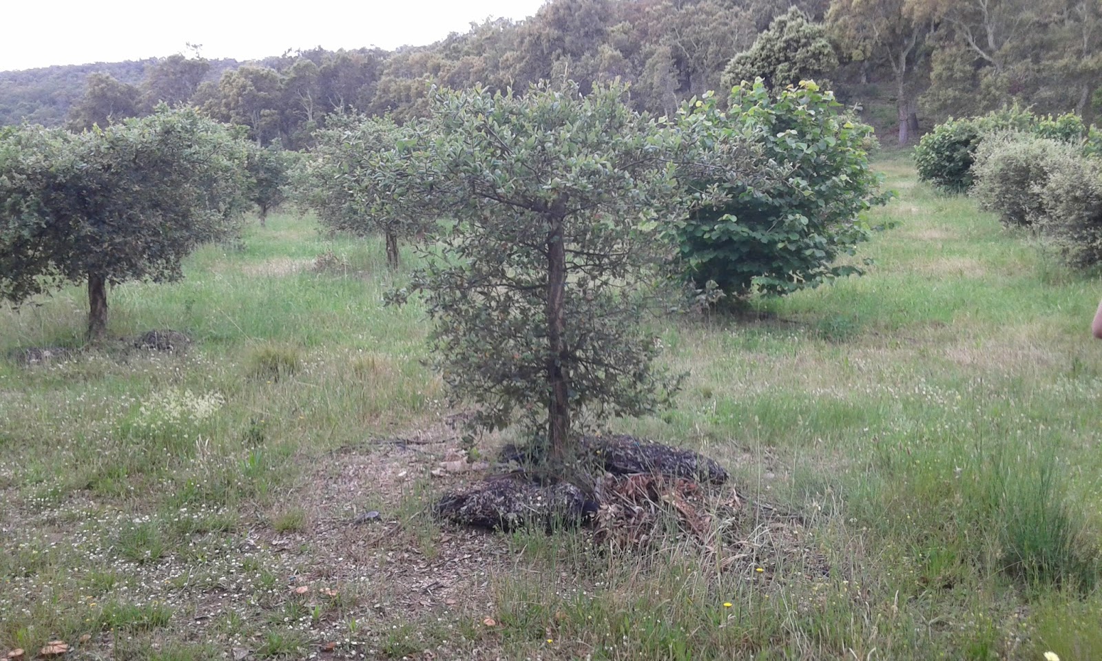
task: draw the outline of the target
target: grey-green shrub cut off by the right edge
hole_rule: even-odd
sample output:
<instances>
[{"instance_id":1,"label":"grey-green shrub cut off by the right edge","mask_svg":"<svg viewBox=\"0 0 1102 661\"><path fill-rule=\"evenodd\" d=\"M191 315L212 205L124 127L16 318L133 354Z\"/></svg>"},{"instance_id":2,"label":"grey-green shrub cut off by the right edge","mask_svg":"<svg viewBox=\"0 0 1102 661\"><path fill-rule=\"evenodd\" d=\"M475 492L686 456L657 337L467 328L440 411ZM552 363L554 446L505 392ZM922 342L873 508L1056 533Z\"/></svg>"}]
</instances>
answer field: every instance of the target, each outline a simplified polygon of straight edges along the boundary
<instances>
[{"instance_id":1,"label":"grey-green shrub cut off by the right edge","mask_svg":"<svg viewBox=\"0 0 1102 661\"><path fill-rule=\"evenodd\" d=\"M1048 170L1041 232L1071 266L1102 262L1102 161L1066 153Z\"/></svg>"}]
</instances>

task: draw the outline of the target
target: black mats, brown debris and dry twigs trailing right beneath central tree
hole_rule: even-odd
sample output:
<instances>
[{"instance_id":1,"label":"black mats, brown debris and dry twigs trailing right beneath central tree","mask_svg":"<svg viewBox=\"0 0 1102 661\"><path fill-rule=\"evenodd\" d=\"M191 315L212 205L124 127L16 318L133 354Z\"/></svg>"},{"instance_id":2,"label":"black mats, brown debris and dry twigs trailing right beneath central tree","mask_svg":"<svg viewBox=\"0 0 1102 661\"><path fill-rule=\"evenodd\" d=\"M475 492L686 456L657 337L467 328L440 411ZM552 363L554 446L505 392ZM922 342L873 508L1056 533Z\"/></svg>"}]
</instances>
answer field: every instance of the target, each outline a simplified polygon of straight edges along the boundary
<instances>
[{"instance_id":1,"label":"black mats, brown debris and dry twigs trailing right beneath central tree","mask_svg":"<svg viewBox=\"0 0 1102 661\"><path fill-rule=\"evenodd\" d=\"M584 524L593 529L595 550L615 553L684 545L703 553L710 566L763 585L830 574L799 514L717 486L727 472L712 459L630 436L586 436L582 448L575 467L585 465L590 473L583 472L579 485L540 481L537 473L523 470L538 457L506 447L503 458L521 469L445 496L436 512L490 530Z\"/></svg>"}]
</instances>

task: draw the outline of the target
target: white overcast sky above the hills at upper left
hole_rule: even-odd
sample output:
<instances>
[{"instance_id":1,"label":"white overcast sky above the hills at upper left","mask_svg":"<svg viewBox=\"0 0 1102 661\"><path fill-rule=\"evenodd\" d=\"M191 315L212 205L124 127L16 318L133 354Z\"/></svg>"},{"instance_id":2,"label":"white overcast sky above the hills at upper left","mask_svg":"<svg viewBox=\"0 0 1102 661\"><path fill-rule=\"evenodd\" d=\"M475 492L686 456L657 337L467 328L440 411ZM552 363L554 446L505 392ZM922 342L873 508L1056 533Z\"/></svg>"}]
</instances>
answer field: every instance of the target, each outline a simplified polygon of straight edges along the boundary
<instances>
[{"instance_id":1,"label":"white overcast sky above the hills at upper left","mask_svg":"<svg viewBox=\"0 0 1102 661\"><path fill-rule=\"evenodd\" d=\"M288 48L395 48L466 32L487 17L523 19L543 0L0 0L0 71L164 57L256 59Z\"/></svg>"}]
</instances>

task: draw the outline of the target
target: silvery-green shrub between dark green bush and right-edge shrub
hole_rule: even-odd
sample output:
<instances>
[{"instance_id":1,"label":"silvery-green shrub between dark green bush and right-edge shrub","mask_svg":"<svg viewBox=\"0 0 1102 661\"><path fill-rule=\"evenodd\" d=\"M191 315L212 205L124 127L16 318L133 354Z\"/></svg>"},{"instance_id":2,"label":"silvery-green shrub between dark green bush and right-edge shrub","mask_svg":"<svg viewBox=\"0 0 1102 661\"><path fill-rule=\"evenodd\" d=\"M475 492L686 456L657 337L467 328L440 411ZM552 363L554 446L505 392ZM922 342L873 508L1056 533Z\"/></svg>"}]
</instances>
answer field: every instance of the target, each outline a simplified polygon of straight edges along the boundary
<instances>
[{"instance_id":1,"label":"silvery-green shrub between dark green bush and right-edge shrub","mask_svg":"<svg viewBox=\"0 0 1102 661\"><path fill-rule=\"evenodd\" d=\"M1048 138L1004 133L976 150L973 194L998 212L1004 225L1029 226L1045 216L1042 193L1056 160L1078 158L1078 148Z\"/></svg>"}]
</instances>

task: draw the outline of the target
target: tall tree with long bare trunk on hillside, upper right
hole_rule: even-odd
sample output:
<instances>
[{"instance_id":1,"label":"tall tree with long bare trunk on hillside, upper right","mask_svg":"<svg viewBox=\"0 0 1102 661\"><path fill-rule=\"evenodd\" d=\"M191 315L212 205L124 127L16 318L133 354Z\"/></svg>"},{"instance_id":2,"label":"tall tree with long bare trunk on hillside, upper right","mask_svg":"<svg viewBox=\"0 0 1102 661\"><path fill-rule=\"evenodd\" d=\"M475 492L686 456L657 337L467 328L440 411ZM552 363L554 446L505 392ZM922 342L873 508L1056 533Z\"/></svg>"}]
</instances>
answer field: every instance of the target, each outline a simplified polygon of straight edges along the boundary
<instances>
[{"instance_id":1,"label":"tall tree with long bare trunk on hillside, upper right","mask_svg":"<svg viewBox=\"0 0 1102 661\"><path fill-rule=\"evenodd\" d=\"M899 144L918 138L916 73L932 29L917 0L833 0L828 22L852 59L886 62L895 77Z\"/></svg>"}]
</instances>

